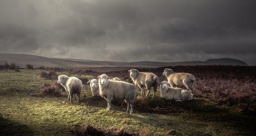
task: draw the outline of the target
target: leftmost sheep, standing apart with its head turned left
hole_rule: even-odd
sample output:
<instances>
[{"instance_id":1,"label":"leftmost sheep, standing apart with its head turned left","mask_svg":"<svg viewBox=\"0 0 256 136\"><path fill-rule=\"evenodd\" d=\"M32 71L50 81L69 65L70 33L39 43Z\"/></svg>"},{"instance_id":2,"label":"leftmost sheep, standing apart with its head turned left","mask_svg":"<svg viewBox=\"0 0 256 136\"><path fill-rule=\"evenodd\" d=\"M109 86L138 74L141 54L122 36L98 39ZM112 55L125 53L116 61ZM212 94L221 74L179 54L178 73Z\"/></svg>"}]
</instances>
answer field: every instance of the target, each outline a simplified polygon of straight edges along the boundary
<instances>
[{"instance_id":1,"label":"leftmost sheep, standing apart with its head turned left","mask_svg":"<svg viewBox=\"0 0 256 136\"><path fill-rule=\"evenodd\" d=\"M80 94L83 89L83 84L82 81L76 77L68 77L66 75L60 75L58 77L59 84L61 84L67 91L68 93L68 100L70 97L70 102L72 103L72 97L73 94L77 94L78 96L78 102L80 102Z\"/></svg>"}]
</instances>

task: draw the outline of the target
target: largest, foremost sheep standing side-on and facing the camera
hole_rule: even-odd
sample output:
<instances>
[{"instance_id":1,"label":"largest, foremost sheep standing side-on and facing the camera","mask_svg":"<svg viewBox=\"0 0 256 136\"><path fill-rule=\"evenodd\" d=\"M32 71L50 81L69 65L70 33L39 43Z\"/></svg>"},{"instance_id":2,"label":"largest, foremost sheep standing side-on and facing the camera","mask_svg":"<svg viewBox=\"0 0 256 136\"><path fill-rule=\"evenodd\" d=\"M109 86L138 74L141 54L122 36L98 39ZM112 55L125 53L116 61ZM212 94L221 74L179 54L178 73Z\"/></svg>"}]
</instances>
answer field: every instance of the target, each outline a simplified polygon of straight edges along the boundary
<instances>
[{"instance_id":1,"label":"largest, foremost sheep standing side-on and facing the camera","mask_svg":"<svg viewBox=\"0 0 256 136\"><path fill-rule=\"evenodd\" d=\"M100 96L107 100L107 110L111 108L111 101L113 98L125 99L127 103L127 110L130 114L133 113L133 104L136 98L137 87L133 84L123 81L113 81L106 74L99 77Z\"/></svg>"}]
</instances>

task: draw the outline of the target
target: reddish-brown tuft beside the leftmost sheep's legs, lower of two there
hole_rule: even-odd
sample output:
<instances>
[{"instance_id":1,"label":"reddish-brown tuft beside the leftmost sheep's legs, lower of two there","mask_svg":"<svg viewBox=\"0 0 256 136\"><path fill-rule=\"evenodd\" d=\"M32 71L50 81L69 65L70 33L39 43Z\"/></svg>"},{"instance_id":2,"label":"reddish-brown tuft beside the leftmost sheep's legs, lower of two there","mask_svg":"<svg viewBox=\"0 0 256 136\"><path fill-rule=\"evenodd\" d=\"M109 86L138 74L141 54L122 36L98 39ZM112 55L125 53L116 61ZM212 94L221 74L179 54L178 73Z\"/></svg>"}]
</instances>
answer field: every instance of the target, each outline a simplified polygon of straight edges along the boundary
<instances>
[{"instance_id":1,"label":"reddish-brown tuft beside the leftmost sheep's legs, lower of two there","mask_svg":"<svg viewBox=\"0 0 256 136\"><path fill-rule=\"evenodd\" d=\"M62 96L62 90L59 89L59 87L57 87L55 84L44 83L40 89L41 91L36 94L38 97Z\"/></svg>"}]
</instances>

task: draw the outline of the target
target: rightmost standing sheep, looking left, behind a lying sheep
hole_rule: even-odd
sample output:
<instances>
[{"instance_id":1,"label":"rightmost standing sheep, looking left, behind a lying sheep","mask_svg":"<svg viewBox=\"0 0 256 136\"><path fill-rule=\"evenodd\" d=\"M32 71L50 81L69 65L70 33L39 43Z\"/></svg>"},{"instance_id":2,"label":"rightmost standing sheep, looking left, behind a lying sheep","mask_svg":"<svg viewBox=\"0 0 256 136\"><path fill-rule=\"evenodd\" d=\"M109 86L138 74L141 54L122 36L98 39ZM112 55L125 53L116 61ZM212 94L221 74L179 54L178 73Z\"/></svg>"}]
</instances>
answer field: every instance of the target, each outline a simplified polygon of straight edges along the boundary
<instances>
[{"instance_id":1,"label":"rightmost standing sheep, looking left, behind a lying sheep","mask_svg":"<svg viewBox=\"0 0 256 136\"><path fill-rule=\"evenodd\" d=\"M174 73L172 69L166 68L163 73L171 87L187 88L193 96L194 75L190 73Z\"/></svg>"}]
</instances>

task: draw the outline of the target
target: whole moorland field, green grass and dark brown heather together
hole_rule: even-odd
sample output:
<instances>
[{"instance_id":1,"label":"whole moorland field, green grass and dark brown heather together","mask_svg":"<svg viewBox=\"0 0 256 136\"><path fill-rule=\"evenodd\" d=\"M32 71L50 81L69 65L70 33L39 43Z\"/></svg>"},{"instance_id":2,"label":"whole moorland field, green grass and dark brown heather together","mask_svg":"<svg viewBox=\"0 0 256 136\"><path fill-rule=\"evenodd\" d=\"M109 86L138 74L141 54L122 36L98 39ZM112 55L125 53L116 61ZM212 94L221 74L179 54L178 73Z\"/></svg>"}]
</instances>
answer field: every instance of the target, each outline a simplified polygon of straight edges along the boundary
<instances>
[{"instance_id":1,"label":"whole moorland field, green grass and dark brown heather together","mask_svg":"<svg viewBox=\"0 0 256 136\"><path fill-rule=\"evenodd\" d=\"M1 135L83 135L77 131L86 124L104 130L122 130L130 134L166 135L256 135L255 77L256 67L177 66L175 72L188 72L197 77L192 101L178 103L160 98L140 96L137 91L132 115L125 113L123 101L107 102L92 96L84 84L81 103L67 100L66 91L59 97L37 97L43 83L54 80L41 78L43 70L0 70L0 131ZM90 70L93 69L93 70ZM130 82L129 68L83 68L57 73L88 80L106 73ZM138 68L151 71L164 80L164 68ZM120 128L120 129L119 129ZM141 133L142 132L142 133ZM90 135L85 133L84 135Z\"/></svg>"}]
</instances>

